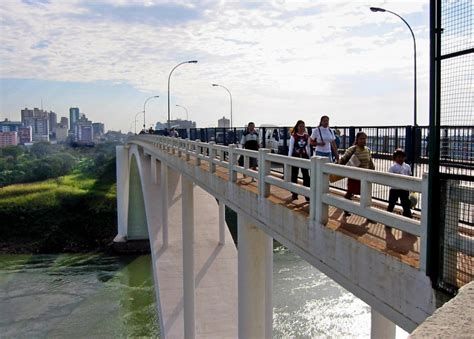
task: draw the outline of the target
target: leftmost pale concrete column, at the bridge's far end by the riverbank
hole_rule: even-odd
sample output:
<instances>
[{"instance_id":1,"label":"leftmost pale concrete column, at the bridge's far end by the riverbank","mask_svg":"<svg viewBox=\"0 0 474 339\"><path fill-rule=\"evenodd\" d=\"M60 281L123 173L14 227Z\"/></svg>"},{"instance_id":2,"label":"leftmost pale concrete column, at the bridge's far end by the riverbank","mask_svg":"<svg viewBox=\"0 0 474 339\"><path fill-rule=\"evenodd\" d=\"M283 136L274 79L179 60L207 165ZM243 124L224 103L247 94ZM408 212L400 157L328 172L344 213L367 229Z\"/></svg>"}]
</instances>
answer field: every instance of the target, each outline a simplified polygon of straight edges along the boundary
<instances>
[{"instance_id":1,"label":"leftmost pale concrete column, at the bridge's far end by the riverbank","mask_svg":"<svg viewBox=\"0 0 474 339\"><path fill-rule=\"evenodd\" d=\"M118 235L127 237L128 225L128 199L130 189L130 166L128 148L117 146L117 225Z\"/></svg>"}]
</instances>

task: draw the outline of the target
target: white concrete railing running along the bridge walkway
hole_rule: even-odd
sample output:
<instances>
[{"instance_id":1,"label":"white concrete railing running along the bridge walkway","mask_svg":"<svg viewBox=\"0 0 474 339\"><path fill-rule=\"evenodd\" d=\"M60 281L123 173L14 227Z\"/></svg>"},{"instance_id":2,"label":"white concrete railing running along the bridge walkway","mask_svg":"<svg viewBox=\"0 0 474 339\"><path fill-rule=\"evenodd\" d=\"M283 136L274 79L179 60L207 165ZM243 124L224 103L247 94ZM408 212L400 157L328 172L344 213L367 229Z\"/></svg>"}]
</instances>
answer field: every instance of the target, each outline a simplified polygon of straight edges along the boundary
<instances>
[{"instance_id":1,"label":"white concrete railing running along the bridge walkway","mask_svg":"<svg viewBox=\"0 0 474 339\"><path fill-rule=\"evenodd\" d=\"M327 158L312 157L301 159L270 153L269 149L251 151L237 148L236 145L222 146L214 142L204 143L199 140L170 138L164 136L132 137L129 141L146 140L154 148L177 154L185 155L189 161L192 156L195 165L207 162L209 171L214 173L216 166L228 169L229 181L237 181L237 173L247 175L258 180L259 195L266 198L270 195L270 187L275 186L289 192L310 198L310 222L326 225L328 222L329 206L335 206L345 211L377 221L386 226L399 229L420 237L420 269L426 267L426 232L427 232L427 204L428 176L414 178L385 172L376 172L362 168L328 163ZM243 166L239 166L238 158L243 157ZM258 171L249 168L250 158L258 160ZM272 164L281 165L284 169L283 177L277 177L271 172ZM305 187L290 180L291 167L304 168L310 171L310 187ZM331 174L360 180L360 201L347 200L329 189L329 176ZM406 218L394 213L384 211L372 206L372 185L379 184L390 186L410 192L420 193L421 220ZM314 189L311 189L314 188Z\"/></svg>"}]
</instances>

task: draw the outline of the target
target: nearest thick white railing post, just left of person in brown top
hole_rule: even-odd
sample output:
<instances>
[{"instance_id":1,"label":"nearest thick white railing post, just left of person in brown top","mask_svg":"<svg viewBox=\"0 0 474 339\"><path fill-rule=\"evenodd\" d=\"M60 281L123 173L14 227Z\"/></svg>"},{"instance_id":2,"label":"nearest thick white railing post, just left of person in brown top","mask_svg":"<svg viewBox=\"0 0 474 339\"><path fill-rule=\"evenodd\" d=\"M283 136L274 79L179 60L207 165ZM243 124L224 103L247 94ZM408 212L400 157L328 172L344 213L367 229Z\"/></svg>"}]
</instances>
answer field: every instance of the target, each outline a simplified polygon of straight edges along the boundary
<instances>
[{"instance_id":1,"label":"nearest thick white railing post, just left of person in brown top","mask_svg":"<svg viewBox=\"0 0 474 339\"><path fill-rule=\"evenodd\" d=\"M314 204L314 220L320 225L326 225L329 218L329 207L323 203L322 199L324 194L329 193L329 177L323 173L323 166L329 162L329 159L327 157L312 157L311 161L315 162L315 164L312 165L312 169L315 167L314 172L316 173L316 177L311 178L316 181L316 187L311 183L311 190L315 191L314 196L311 197L314 199L314 202L311 202L311 207L313 207ZM311 176L313 176L313 174L311 174Z\"/></svg>"}]
</instances>

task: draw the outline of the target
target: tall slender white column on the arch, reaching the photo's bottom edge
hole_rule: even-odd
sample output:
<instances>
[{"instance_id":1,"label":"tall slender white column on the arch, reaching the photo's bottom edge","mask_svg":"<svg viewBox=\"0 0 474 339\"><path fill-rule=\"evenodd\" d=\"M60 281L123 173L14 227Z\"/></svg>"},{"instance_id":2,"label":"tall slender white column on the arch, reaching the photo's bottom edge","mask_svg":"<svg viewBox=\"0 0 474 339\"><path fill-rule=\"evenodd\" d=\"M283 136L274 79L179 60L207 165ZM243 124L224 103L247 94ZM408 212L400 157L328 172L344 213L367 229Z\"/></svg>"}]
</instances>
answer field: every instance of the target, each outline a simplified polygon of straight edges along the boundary
<instances>
[{"instance_id":1,"label":"tall slender white column on the arch, reaching the photo's bottom edge","mask_svg":"<svg viewBox=\"0 0 474 339\"><path fill-rule=\"evenodd\" d=\"M194 197L193 182L181 176L182 221L183 221L183 299L184 337L194 338Z\"/></svg>"}]
</instances>

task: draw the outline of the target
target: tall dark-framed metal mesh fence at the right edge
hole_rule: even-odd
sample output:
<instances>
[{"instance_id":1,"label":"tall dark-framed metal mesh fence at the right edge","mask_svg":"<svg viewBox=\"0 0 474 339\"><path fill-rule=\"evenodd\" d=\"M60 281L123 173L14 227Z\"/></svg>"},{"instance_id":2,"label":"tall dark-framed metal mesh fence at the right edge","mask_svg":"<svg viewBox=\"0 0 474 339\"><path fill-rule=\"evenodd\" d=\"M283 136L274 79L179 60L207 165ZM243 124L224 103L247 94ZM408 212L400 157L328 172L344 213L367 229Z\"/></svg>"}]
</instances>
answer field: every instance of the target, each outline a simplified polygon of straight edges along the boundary
<instances>
[{"instance_id":1,"label":"tall dark-framed metal mesh fence at the right edge","mask_svg":"<svg viewBox=\"0 0 474 339\"><path fill-rule=\"evenodd\" d=\"M474 3L438 0L435 6L441 13L434 22L440 54L431 60L440 79L434 92L440 105L432 113L441 125L433 160L440 173L440 208L432 218L440 229L436 284L454 294L474 278Z\"/></svg>"}]
</instances>

